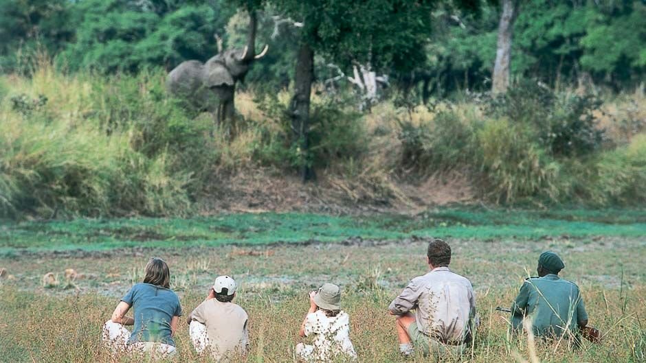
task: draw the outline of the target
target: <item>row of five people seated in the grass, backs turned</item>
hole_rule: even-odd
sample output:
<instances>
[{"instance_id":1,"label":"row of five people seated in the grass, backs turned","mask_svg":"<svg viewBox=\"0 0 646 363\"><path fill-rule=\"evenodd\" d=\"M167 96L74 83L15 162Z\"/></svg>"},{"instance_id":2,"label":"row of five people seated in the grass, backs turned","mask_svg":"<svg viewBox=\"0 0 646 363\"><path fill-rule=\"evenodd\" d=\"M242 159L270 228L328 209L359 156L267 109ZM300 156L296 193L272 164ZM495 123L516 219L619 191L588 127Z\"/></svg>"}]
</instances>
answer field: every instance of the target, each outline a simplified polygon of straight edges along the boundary
<instances>
[{"instance_id":1,"label":"row of five people seated in the grass, backs turned","mask_svg":"<svg viewBox=\"0 0 646 363\"><path fill-rule=\"evenodd\" d=\"M427 248L430 272L412 279L390 303L388 310L395 316L399 351L404 357L459 355L473 340L478 325L476 296L467 278L449 270L450 262L451 247L434 239ZM535 336L576 340L588 316L577 285L559 278L562 268L564 263L555 253L540 255L539 277L526 279L512 303L512 329L522 327L527 317ZM233 303L237 288L232 277L217 277L205 301L187 319L194 349L220 362L242 357L249 350L247 313ZM310 362L339 356L355 359L350 319L341 309L339 286L325 283L309 293L309 303L300 336L313 337L313 344L297 344L296 358ZM131 308L133 317L128 317ZM131 288L105 323L102 338L115 354L138 352L152 358L172 358L177 355L173 337L181 315L179 298L170 290L168 265L153 258L146 265L144 282ZM129 331L124 325L134 327Z\"/></svg>"}]
</instances>

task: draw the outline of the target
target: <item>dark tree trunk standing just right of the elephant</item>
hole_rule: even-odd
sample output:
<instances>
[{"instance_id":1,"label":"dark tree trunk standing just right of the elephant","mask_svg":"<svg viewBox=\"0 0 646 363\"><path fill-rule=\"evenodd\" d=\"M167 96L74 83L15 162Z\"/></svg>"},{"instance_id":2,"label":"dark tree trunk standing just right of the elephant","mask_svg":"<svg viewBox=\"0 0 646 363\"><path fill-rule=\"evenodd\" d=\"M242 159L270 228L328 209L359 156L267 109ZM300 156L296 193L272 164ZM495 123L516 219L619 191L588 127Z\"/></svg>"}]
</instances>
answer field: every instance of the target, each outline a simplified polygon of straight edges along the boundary
<instances>
[{"instance_id":1,"label":"dark tree trunk standing just right of the elephant","mask_svg":"<svg viewBox=\"0 0 646 363\"><path fill-rule=\"evenodd\" d=\"M301 43L296 56L296 73L294 75L294 95L291 99L291 126L300 142L300 152L308 152L309 104L314 80L314 51L307 43ZM307 160L301 165L303 183L315 178L314 170L307 165Z\"/></svg>"}]
</instances>

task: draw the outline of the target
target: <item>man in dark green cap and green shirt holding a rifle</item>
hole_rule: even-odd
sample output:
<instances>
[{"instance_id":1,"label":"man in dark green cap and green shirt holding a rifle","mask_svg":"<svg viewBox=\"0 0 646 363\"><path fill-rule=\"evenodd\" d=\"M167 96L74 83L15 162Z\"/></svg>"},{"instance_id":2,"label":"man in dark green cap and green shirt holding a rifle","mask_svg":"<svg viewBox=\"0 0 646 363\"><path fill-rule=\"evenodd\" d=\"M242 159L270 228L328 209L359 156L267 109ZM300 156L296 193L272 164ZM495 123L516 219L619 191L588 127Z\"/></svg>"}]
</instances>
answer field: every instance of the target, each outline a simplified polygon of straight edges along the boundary
<instances>
[{"instance_id":1,"label":"man in dark green cap and green shirt holding a rifle","mask_svg":"<svg viewBox=\"0 0 646 363\"><path fill-rule=\"evenodd\" d=\"M579 287L559 277L564 267L556 253L548 251L540 255L539 277L526 279L511 305L515 331L522 329L525 316L531 318L535 336L545 338L576 337L579 329L588 325Z\"/></svg>"}]
</instances>

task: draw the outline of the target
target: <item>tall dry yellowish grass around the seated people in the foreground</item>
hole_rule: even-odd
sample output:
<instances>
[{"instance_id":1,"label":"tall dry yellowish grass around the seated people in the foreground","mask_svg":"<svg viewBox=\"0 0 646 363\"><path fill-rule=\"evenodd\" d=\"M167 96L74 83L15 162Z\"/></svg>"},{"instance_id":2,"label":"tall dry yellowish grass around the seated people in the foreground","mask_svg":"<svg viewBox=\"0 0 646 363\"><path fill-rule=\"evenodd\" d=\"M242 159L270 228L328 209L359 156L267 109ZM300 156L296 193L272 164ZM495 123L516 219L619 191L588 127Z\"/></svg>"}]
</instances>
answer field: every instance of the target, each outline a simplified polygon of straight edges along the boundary
<instances>
[{"instance_id":1,"label":"tall dry yellowish grass around the seated people in the foreground","mask_svg":"<svg viewBox=\"0 0 646 363\"><path fill-rule=\"evenodd\" d=\"M78 296L37 296L15 288L0 287L3 326L3 360L7 362L146 362L140 357L122 356L115 360L100 342L101 326L115 300L94 294ZM634 291L639 296L643 289ZM247 310L251 350L239 362L296 362L294 346L298 327L307 310L303 296L284 296L275 287L249 296L240 292L238 303ZM443 362L643 362L646 335L643 301L633 299L623 307L619 292L590 294L588 312L603 332L599 345L584 341L583 346L568 349L532 339L526 333L509 336L506 315L495 312L513 298L515 290L493 290L478 296L481 317L475 343L462 357L445 357ZM304 294L303 294L304 295ZM386 307L390 292L370 290L344 294L344 310L350 315L350 338L358 362L399 362L394 321ZM197 306L203 296L190 292L182 299L186 312ZM186 313L185 312L185 313ZM10 329L10 327L12 327ZM179 356L174 362L213 362L192 349L188 325L182 319L175 337ZM411 362L428 362L417 357ZM236 360L235 362L238 362ZM337 362L342 362L338 360Z\"/></svg>"}]
</instances>

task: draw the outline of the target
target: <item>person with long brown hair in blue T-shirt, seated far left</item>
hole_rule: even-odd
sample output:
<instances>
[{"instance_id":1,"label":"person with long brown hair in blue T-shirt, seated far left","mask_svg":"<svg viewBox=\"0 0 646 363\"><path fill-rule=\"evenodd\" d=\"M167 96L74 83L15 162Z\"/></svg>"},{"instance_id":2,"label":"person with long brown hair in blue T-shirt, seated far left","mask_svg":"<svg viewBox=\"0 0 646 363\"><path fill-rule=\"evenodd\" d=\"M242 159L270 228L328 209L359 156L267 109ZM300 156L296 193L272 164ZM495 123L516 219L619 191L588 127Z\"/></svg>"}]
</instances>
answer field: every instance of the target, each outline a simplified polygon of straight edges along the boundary
<instances>
[{"instance_id":1,"label":"person with long brown hair in blue T-shirt, seated far left","mask_svg":"<svg viewBox=\"0 0 646 363\"><path fill-rule=\"evenodd\" d=\"M133 308L133 317L126 313ZM181 316L179 298L170 290L170 270L163 259L146 264L144 282L136 283L103 325L103 341L113 353L138 351L152 358L171 358L172 337ZM134 325L130 332L124 325Z\"/></svg>"}]
</instances>

